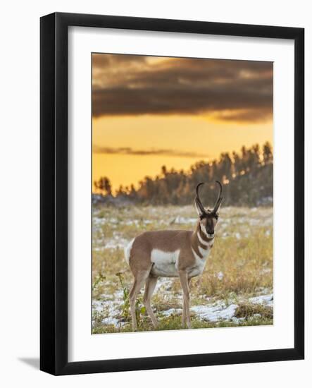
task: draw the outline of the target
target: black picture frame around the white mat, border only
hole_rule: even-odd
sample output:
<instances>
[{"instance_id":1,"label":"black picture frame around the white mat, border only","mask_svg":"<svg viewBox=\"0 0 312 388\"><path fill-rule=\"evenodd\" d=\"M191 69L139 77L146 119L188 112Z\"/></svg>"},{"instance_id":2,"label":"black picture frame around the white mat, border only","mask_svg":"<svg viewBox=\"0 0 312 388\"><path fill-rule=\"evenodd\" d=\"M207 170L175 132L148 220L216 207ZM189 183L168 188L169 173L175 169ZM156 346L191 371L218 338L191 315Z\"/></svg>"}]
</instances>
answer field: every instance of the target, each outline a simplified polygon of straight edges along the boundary
<instances>
[{"instance_id":1,"label":"black picture frame around the white mat, border only","mask_svg":"<svg viewBox=\"0 0 312 388\"><path fill-rule=\"evenodd\" d=\"M294 348L68 362L68 27L294 40ZM51 13L40 20L40 369L53 375L304 358L304 29Z\"/></svg>"}]
</instances>

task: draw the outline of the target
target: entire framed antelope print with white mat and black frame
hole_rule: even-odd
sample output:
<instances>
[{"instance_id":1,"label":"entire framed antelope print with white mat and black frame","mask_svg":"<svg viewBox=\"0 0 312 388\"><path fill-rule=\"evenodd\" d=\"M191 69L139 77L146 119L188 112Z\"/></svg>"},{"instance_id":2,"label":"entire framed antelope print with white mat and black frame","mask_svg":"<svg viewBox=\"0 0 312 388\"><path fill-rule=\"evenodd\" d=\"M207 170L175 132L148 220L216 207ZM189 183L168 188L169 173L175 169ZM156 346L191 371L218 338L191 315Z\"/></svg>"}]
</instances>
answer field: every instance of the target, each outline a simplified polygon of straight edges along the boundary
<instances>
[{"instance_id":1,"label":"entire framed antelope print with white mat and black frame","mask_svg":"<svg viewBox=\"0 0 312 388\"><path fill-rule=\"evenodd\" d=\"M41 18L54 375L304 358L304 29Z\"/></svg>"}]
</instances>

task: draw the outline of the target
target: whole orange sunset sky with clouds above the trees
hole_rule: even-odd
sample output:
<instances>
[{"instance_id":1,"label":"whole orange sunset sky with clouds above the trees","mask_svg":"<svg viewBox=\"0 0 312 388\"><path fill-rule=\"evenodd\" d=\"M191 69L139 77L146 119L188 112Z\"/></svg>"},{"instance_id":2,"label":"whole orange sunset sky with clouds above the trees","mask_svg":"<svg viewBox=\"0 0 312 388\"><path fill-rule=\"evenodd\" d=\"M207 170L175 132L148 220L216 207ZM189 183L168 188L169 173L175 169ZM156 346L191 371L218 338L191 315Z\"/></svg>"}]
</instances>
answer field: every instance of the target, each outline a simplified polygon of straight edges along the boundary
<instances>
[{"instance_id":1,"label":"whole orange sunset sky with clouds above the trees","mask_svg":"<svg viewBox=\"0 0 312 388\"><path fill-rule=\"evenodd\" d=\"M92 54L92 179L113 190L273 143L273 63Z\"/></svg>"}]
</instances>

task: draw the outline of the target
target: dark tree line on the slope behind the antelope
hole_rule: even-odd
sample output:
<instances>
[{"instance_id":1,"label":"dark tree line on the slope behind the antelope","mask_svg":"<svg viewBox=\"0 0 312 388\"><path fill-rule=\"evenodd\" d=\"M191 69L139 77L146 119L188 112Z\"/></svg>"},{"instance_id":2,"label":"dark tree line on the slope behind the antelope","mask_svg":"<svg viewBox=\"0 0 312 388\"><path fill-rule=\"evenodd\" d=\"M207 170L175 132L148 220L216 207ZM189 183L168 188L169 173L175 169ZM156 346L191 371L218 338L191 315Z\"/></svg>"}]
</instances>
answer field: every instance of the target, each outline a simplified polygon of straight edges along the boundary
<instances>
[{"instance_id":1,"label":"dark tree line on the slope behind the antelope","mask_svg":"<svg viewBox=\"0 0 312 388\"><path fill-rule=\"evenodd\" d=\"M273 202L273 150L266 142L260 147L242 147L240 152L223 152L212 162L196 162L189 171L161 167L154 178L145 176L135 188L120 186L115 193L107 176L94 181L94 187L103 199L118 198L151 205L187 205L194 200L196 185L201 187L204 205L216 200L215 181L223 183L224 205L258 206Z\"/></svg>"}]
</instances>

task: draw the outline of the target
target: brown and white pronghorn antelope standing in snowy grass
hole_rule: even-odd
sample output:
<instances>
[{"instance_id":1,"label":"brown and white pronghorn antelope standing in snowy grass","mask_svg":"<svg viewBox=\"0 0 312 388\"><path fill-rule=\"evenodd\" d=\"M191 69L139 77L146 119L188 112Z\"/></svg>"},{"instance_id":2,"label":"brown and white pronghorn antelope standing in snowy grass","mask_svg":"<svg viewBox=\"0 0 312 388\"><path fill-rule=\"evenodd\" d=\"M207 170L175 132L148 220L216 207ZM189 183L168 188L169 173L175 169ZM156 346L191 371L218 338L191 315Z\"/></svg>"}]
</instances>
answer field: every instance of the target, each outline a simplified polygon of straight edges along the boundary
<instances>
[{"instance_id":1,"label":"brown and white pronghorn antelope standing in snowy grass","mask_svg":"<svg viewBox=\"0 0 312 388\"><path fill-rule=\"evenodd\" d=\"M209 251L213 247L215 227L218 222L218 210L223 200L220 186L218 199L213 210L205 209L199 198L199 187L196 186L195 207L199 220L194 231L146 231L125 248L125 260L135 277L130 291L130 310L132 328L137 330L135 302L137 294L145 282L143 303L151 317L154 327L157 320L151 309L151 296L158 277L180 277L183 291L182 325L191 327L189 317L189 283L192 277L199 276L203 270Z\"/></svg>"}]
</instances>

